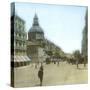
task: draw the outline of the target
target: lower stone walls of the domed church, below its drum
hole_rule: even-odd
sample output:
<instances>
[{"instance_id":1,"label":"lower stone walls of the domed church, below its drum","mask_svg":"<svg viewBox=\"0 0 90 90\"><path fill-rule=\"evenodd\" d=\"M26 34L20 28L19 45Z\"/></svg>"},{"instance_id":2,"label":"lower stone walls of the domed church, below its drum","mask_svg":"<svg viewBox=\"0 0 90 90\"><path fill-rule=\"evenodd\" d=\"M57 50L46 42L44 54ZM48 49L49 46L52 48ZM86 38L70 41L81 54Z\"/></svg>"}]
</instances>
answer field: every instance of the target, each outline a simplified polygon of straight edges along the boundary
<instances>
[{"instance_id":1,"label":"lower stone walls of the domed church, below its drum","mask_svg":"<svg viewBox=\"0 0 90 90\"><path fill-rule=\"evenodd\" d=\"M33 63L39 63L45 61L44 48L40 44L28 41L27 55L31 58Z\"/></svg>"}]
</instances>

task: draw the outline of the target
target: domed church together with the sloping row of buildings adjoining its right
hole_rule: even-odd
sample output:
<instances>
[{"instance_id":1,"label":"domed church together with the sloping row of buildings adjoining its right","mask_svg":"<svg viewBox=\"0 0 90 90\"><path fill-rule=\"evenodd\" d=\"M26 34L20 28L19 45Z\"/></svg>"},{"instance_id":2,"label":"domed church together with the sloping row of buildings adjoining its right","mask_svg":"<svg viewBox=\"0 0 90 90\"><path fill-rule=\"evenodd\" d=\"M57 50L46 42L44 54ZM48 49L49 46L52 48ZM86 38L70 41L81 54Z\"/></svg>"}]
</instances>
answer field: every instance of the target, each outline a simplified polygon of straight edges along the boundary
<instances>
[{"instance_id":1,"label":"domed church together with the sloping row of buildings adjoining its right","mask_svg":"<svg viewBox=\"0 0 90 90\"><path fill-rule=\"evenodd\" d=\"M51 57L48 53L63 53L61 48L44 37L44 31L40 27L38 17L35 14L33 24L28 32L27 55L32 62L43 62Z\"/></svg>"}]
</instances>

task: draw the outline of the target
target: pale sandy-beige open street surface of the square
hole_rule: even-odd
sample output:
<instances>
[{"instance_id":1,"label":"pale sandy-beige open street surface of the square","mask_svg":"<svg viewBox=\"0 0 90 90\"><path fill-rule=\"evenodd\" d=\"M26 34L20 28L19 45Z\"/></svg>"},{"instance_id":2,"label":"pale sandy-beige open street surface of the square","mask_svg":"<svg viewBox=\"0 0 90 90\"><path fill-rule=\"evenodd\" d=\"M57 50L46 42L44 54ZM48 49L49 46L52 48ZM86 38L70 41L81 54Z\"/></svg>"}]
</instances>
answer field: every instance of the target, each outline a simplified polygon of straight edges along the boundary
<instances>
[{"instance_id":1,"label":"pale sandy-beige open street surface of the square","mask_svg":"<svg viewBox=\"0 0 90 90\"><path fill-rule=\"evenodd\" d=\"M39 86L38 68L34 65L15 68L15 87ZM61 62L57 64L44 64L43 86L84 84L88 83L88 69L83 64L76 65Z\"/></svg>"}]
</instances>

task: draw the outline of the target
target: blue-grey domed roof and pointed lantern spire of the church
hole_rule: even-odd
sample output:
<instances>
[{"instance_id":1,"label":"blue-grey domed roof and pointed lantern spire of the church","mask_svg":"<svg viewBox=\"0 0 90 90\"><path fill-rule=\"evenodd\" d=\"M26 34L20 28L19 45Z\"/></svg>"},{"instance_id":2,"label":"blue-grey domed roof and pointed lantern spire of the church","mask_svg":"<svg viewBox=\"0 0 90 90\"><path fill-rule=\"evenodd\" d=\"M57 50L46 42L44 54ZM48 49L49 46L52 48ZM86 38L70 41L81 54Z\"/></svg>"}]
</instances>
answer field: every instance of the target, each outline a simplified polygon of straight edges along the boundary
<instances>
[{"instance_id":1,"label":"blue-grey domed roof and pointed lantern spire of the church","mask_svg":"<svg viewBox=\"0 0 90 90\"><path fill-rule=\"evenodd\" d=\"M30 28L29 32L39 32L39 33L44 33L43 29L39 26L39 22L38 22L38 17L35 14L34 19L33 19L33 25Z\"/></svg>"}]
</instances>

